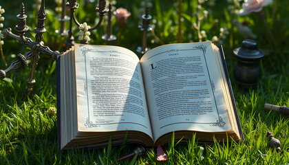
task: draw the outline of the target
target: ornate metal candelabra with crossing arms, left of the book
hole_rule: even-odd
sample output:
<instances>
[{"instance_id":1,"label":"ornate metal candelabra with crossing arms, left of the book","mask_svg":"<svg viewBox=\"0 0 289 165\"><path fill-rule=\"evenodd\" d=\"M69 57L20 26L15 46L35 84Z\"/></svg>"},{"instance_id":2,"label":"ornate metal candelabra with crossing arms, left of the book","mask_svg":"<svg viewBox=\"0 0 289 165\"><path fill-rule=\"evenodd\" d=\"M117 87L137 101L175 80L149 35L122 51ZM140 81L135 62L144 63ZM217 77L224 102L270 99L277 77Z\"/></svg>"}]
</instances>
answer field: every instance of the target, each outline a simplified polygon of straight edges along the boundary
<instances>
[{"instance_id":1,"label":"ornate metal candelabra with crossing arms, left of the book","mask_svg":"<svg viewBox=\"0 0 289 165\"><path fill-rule=\"evenodd\" d=\"M16 34L13 34L11 31L11 28L6 28L2 31L3 37L10 36L14 39L17 39L19 43L25 45L26 47L30 47L30 51L26 52L24 56L22 54L18 54L18 60L11 63L10 67L8 67L5 70L0 70L0 78L5 78L6 73L10 72L11 70L19 68L20 65L23 65L24 67L28 66L28 60L31 59L31 72L30 77L27 80L28 87L26 90L26 94L28 96L32 96L33 91L33 85L36 83L34 80L34 73L37 66L37 63L40 58L40 54L48 54L52 56L52 59L55 60L56 56L60 55L58 51L52 51L49 47L45 46L43 41L43 33L46 32L46 29L44 28L44 21L45 21L45 0L41 1L41 7L39 9L39 12L37 14L37 25L36 28L34 28L34 32L36 33L35 41L32 41L32 39L27 38L24 36L25 32L28 31L28 26L26 25L26 18L25 15L25 8L24 4L21 4L20 7L20 14L17 15L18 19L18 25L15 26L14 30L16 30L19 33L19 36Z\"/></svg>"}]
</instances>

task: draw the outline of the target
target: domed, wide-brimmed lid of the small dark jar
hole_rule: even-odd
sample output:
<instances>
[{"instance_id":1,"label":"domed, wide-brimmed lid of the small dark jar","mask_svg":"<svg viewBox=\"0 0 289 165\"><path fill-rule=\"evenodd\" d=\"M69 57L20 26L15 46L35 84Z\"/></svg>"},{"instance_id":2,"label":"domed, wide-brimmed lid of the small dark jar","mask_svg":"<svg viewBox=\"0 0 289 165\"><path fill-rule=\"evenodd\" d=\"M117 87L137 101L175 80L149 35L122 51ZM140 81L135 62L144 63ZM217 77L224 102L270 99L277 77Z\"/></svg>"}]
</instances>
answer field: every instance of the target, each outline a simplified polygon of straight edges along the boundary
<instances>
[{"instance_id":1,"label":"domed, wide-brimmed lid of the small dark jar","mask_svg":"<svg viewBox=\"0 0 289 165\"><path fill-rule=\"evenodd\" d=\"M233 50L233 54L239 58L257 59L262 58L265 53L257 46L257 42L251 39L246 39L242 42L242 47L237 47Z\"/></svg>"}]
</instances>

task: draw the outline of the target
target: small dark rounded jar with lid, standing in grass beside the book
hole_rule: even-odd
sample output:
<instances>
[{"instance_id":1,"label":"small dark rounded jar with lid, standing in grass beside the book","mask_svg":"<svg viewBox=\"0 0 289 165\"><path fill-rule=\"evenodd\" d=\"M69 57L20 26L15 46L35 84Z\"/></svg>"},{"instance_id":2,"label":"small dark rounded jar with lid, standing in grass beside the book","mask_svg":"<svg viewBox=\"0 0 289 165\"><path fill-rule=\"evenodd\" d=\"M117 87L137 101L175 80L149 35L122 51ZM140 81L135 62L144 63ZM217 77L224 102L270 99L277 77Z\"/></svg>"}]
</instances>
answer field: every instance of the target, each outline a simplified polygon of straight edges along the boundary
<instances>
[{"instance_id":1,"label":"small dark rounded jar with lid, standing in grass beside the book","mask_svg":"<svg viewBox=\"0 0 289 165\"><path fill-rule=\"evenodd\" d=\"M236 82L242 87L255 87L262 75L260 59L264 51L257 47L256 41L246 39L242 47L233 50L233 54L237 57L237 66L234 68Z\"/></svg>"}]
</instances>

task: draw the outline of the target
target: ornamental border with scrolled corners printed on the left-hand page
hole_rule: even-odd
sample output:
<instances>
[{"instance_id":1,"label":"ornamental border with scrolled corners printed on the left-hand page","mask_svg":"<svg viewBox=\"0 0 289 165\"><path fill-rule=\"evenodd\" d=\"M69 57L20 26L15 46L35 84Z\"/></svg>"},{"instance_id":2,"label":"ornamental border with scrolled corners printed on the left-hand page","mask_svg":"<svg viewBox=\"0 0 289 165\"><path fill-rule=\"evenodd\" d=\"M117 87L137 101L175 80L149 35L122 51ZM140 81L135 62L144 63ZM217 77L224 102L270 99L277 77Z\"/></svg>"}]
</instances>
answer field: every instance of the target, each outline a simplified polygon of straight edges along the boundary
<instances>
[{"instance_id":1,"label":"ornamental border with scrolled corners printed on the left-hand page","mask_svg":"<svg viewBox=\"0 0 289 165\"><path fill-rule=\"evenodd\" d=\"M143 126L144 128L148 129L147 126L144 126L142 124L136 123L136 122L114 122L114 123L99 123L99 124L94 124L92 121L90 121L89 118L89 96L88 96L88 89L87 89L87 63L86 63L86 54L87 52L98 52L98 53L114 53L114 54L123 54L123 55L127 55L127 56L131 56L130 54L125 54L123 52L118 52L118 51L100 51L100 50L96 50L96 49L88 49L87 47L82 47L81 48L81 54L83 54L83 57L85 58L85 85L83 87L83 91L85 91L85 94L87 94L87 111L88 111L88 117L86 122L84 123L85 127L87 128L98 128L100 127L100 125L108 125L108 124L138 124L140 126Z\"/></svg>"}]
</instances>

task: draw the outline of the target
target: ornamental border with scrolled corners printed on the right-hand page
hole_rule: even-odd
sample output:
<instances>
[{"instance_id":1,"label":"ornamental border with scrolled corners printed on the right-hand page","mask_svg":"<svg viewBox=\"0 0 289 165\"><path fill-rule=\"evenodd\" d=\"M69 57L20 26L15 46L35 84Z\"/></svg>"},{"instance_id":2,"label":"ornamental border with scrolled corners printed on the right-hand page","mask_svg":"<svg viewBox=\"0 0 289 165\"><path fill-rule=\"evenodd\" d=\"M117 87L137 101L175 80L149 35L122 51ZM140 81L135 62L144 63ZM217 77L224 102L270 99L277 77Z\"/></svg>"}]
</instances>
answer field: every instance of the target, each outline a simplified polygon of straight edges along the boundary
<instances>
[{"instance_id":1,"label":"ornamental border with scrolled corners printed on the right-hand page","mask_svg":"<svg viewBox=\"0 0 289 165\"><path fill-rule=\"evenodd\" d=\"M203 52L203 55L204 55L204 60L205 60L205 63L206 63L206 49L207 47L205 45L199 45L199 46L196 46L196 47L193 47L193 49L187 49L187 50L167 50L165 52L160 52L158 54L155 54L149 58L152 58L154 56L158 56L160 54L164 54L164 53L168 53L168 52L178 52L178 51L188 51L188 50L200 50ZM149 59L147 58L147 59ZM208 64L206 63L206 70L208 72ZM214 101L215 101L215 107L217 109L217 116L219 118L219 120L217 120L216 122L175 122L175 123L171 123L171 124L167 124L167 125L164 125L162 127L160 127L160 129L163 129L164 127L166 126L169 126L169 125L173 125L173 124L183 124L183 123L195 123L195 124L210 124L210 126L224 126L226 124L226 122L223 121L222 117L220 116L220 113L219 113L219 109L217 108L217 102L216 102L216 99L215 99L215 84L213 82L213 80L211 80L211 76L210 76L210 73L208 72L208 78L210 80L210 84L211 84L211 89L212 89L212 93L213 93L213 97L214 97Z\"/></svg>"}]
</instances>

